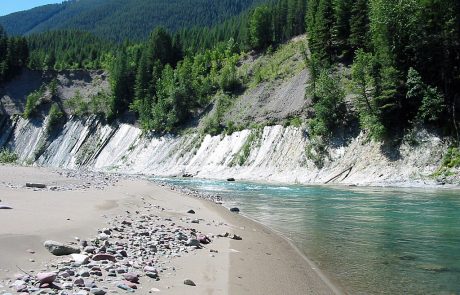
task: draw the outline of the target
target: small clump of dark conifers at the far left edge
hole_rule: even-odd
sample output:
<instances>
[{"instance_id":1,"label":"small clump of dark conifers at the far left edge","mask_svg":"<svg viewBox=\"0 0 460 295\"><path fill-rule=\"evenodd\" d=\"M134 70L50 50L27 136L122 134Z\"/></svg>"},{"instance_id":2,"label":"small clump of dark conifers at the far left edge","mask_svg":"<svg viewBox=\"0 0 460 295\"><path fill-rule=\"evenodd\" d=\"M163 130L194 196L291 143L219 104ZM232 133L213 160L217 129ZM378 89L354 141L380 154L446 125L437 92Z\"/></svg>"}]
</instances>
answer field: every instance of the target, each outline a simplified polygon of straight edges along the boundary
<instances>
[{"instance_id":1,"label":"small clump of dark conifers at the far left edge","mask_svg":"<svg viewBox=\"0 0 460 295\"><path fill-rule=\"evenodd\" d=\"M27 64L29 49L26 39L8 37L0 26L0 83L19 73Z\"/></svg>"}]
</instances>

